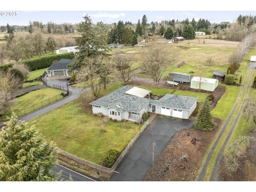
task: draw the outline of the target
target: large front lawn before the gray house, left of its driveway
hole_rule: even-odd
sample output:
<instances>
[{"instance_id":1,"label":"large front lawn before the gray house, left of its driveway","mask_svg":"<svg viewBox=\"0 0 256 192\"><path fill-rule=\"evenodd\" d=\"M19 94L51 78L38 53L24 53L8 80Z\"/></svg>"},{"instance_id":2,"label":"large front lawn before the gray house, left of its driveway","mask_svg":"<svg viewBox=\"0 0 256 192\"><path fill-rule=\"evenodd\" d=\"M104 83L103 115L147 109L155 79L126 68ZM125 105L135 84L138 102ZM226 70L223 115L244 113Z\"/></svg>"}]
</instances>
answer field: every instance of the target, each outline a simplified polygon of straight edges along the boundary
<instances>
[{"instance_id":1,"label":"large front lawn before the gray house, left of its driveway","mask_svg":"<svg viewBox=\"0 0 256 192\"><path fill-rule=\"evenodd\" d=\"M122 151L139 129L130 122L109 121L103 133L102 118L83 112L78 102L71 102L30 123L60 149L100 164L109 149Z\"/></svg>"}]
</instances>

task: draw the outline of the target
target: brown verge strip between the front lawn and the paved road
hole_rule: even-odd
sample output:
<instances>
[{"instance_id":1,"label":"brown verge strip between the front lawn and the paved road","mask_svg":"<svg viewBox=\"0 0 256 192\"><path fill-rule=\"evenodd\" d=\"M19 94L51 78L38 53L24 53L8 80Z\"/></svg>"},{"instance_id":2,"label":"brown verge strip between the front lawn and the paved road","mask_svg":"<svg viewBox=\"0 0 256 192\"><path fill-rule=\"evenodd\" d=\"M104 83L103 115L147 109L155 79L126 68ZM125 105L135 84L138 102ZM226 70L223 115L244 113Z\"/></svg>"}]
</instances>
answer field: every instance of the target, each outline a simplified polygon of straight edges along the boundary
<instances>
[{"instance_id":1,"label":"brown verge strip between the front lawn and the paved road","mask_svg":"<svg viewBox=\"0 0 256 192\"><path fill-rule=\"evenodd\" d=\"M77 172L83 172L85 174L91 175L94 178L99 178L98 171L100 171L101 175L99 179L105 181L108 180L113 173L113 171L107 167L86 161L85 159L67 153L66 151L58 149L57 153L59 163L61 165L66 166L69 169L73 169Z\"/></svg>"}]
</instances>

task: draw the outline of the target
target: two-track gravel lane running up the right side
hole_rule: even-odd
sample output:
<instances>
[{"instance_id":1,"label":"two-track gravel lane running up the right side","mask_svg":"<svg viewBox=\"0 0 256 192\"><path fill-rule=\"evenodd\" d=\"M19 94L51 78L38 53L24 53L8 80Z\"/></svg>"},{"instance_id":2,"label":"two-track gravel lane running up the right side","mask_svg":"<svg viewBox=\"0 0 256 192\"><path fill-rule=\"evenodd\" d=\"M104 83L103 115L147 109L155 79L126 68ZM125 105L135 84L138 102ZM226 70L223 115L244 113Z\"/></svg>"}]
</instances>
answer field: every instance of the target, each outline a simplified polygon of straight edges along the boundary
<instances>
[{"instance_id":1,"label":"two-track gravel lane running up the right side","mask_svg":"<svg viewBox=\"0 0 256 192\"><path fill-rule=\"evenodd\" d=\"M238 95L238 98L237 98L237 100L236 100L236 103L235 103L235 105L234 105L234 107L233 107L233 109L232 109L230 115L228 116L227 121L225 122L225 124L224 124L223 127L221 128L220 132L218 133L217 139L214 141L213 146L211 147L209 153L207 154L207 157L206 157L206 160L205 160L205 162L204 162L204 164L203 164L203 167L202 167L201 171L199 172L199 174L198 174L198 176L197 176L197 181L204 181L204 180L205 180L205 174L206 174L207 168L208 168L208 166L209 166L209 164L210 164L212 155L214 154L214 151L216 150L217 146L219 145L219 142L220 142L220 140L221 140L221 138L222 138L222 135L223 135L223 133L226 131L227 126L229 125L229 123L230 123L230 121L231 121L231 118L232 118L232 116L234 115L235 110L237 109L238 102L241 100L241 97L242 97L242 94L243 94L243 91L244 91L244 87L246 86L245 83L246 83L247 76L249 75L249 71L252 70L252 69L255 68L255 67L256 67L255 63L249 63L248 69L247 69L246 75L245 75L245 81L244 81L244 84L242 85L242 89L241 89L241 91L240 91L240 93L239 93L239 95ZM252 73L252 72L251 72L251 73ZM249 89L248 87L250 87L250 85L247 85L247 89ZM243 98L242 98L242 99L243 99ZM240 110L241 110L241 109L240 109ZM238 114L238 115L239 115L239 114ZM239 117L238 117L238 118L239 118ZM237 119L237 120L238 120L238 119ZM234 126L235 126L235 125L234 125ZM233 130L233 131L234 131L234 129L230 129L230 130ZM231 135L231 134L232 134L232 132L229 132L228 135ZM227 136L227 137L228 137L228 136ZM229 137L230 137L230 136L229 136ZM225 141L225 142L226 142L226 141ZM224 145L225 145L225 144L224 144ZM223 148L223 146L222 146L222 148ZM225 145L225 148L226 148L226 145ZM223 153L222 150L221 150L221 153ZM220 157L219 157L219 158L220 158ZM216 173L218 172L216 169L219 169L219 162L220 162L220 160L221 160L221 159L219 159L219 158L218 158L218 160L217 160L217 164L215 164L215 165L217 165L217 167L214 167L214 168L213 168L213 170L214 170L213 174L214 174L214 175L211 176L211 179L215 178L215 175L216 175Z\"/></svg>"}]
</instances>

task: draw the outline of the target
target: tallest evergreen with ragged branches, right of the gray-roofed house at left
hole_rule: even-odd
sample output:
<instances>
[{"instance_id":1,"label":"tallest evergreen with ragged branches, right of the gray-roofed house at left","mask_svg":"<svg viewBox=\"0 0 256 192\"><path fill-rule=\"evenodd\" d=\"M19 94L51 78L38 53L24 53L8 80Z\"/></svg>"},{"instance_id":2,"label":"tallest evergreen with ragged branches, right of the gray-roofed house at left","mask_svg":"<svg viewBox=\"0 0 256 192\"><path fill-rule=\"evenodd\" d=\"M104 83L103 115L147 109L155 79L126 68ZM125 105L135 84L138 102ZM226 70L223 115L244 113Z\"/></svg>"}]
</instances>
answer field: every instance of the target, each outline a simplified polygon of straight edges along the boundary
<instances>
[{"instance_id":1,"label":"tallest evergreen with ragged branches, right of the gray-roofed house at left","mask_svg":"<svg viewBox=\"0 0 256 192\"><path fill-rule=\"evenodd\" d=\"M76 37L79 52L77 52L77 60L71 64L73 68L81 67L82 63L86 63L82 62L84 59L103 54L102 50L107 49L101 39L95 35L89 15L86 14L83 18L84 21L79 23L77 29L81 33L81 37Z\"/></svg>"}]
</instances>

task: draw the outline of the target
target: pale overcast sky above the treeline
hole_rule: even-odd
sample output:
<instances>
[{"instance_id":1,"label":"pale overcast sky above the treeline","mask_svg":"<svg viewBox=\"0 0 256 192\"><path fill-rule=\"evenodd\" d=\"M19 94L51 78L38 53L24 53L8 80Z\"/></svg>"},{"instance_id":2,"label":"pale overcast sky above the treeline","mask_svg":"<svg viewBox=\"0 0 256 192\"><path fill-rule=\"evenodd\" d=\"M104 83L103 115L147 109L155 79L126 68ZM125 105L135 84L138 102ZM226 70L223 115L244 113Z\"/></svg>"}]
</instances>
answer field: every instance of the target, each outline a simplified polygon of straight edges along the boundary
<instances>
[{"instance_id":1,"label":"pale overcast sky above the treeline","mask_svg":"<svg viewBox=\"0 0 256 192\"><path fill-rule=\"evenodd\" d=\"M3 11L5 12L5 11ZM213 22L236 20L239 14L256 15L256 11L17 11L17 17L0 17L0 25L28 25L29 21L42 21L47 23L78 23L82 21L84 14L89 14L92 21L103 21L105 23L118 22L119 20L137 22L142 15L146 14L148 22L170 19L184 20L186 18L196 20L205 18ZM2 13L2 12L1 12ZM5 12L6 13L6 12Z\"/></svg>"}]
</instances>

